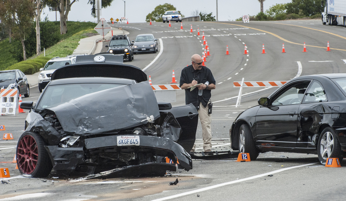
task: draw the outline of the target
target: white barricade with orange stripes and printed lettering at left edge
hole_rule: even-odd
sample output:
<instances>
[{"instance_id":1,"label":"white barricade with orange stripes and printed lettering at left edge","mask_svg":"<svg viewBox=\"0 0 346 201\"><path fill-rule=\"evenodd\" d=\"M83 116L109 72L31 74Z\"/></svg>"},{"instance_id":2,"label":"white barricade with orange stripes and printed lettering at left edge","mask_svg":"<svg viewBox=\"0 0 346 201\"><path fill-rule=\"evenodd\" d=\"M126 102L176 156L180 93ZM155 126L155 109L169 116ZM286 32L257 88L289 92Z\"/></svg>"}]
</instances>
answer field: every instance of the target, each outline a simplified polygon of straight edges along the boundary
<instances>
[{"instance_id":1,"label":"white barricade with orange stripes and printed lettering at left edge","mask_svg":"<svg viewBox=\"0 0 346 201\"><path fill-rule=\"evenodd\" d=\"M17 89L0 89L0 115L16 114L17 102Z\"/></svg>"}]
</instances>

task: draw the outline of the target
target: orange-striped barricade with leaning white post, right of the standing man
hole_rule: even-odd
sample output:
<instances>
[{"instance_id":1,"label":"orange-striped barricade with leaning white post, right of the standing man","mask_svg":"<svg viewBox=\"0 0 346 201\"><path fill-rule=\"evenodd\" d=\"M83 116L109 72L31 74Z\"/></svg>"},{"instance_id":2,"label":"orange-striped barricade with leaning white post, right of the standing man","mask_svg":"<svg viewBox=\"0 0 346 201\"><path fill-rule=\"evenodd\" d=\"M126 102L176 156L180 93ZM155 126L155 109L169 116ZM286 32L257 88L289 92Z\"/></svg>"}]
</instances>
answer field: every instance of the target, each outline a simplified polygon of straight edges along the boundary
<instances>
[{"instance_id":1,"label":"orange-striped barricade with leaning white post, right of the standing man","mask_svg":"<svg viewBox=\"0 0 346 201\"><path fill-rule=\"evenodd\" d=\"M243 87L281 87L286 84L287 81L260 81L260 82L233 82L234 87L240 87L236 107L240 107L240 101L242 100Z\"/></svg>"}]
</instances>

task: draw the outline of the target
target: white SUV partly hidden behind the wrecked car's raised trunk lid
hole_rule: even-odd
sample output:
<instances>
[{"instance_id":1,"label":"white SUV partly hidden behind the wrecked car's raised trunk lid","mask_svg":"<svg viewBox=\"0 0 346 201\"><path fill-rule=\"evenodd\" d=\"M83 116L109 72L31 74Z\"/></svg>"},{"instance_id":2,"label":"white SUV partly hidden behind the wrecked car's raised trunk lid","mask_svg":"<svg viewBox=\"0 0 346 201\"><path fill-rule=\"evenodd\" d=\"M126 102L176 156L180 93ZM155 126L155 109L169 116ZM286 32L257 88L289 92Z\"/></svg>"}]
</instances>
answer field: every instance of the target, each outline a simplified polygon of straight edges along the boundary
<instances>
[{"instance_id":1,"label":"white SUV partly hidden behind the wrecked car's raised trunk lid","mask_svg":"<svg viewBox=\"0 0 346 201\"><path fill-rule=\"evenodd\" d=\"M63 58L54 57L49 60L43 68L40 68L41 73L38 75L38 90L42 92L42 89L51 81L51 75L57 68L74 63L76 63L76 55L69 55Z\"/></svg>"}]
</instances>

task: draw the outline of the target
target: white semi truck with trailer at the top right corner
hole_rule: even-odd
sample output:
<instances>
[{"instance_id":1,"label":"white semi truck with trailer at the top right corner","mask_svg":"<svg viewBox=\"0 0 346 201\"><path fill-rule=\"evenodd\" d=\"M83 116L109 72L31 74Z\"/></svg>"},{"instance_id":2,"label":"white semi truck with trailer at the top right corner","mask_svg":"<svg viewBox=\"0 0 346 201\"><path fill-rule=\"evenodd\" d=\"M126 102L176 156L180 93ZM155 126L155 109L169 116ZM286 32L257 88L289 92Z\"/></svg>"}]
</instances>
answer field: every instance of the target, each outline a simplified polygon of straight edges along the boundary
<instances>
[{"instance_id":1,"label":"white semi truck with trailer at the top right corner","mask_svg":"<svg viewBox=\"0 0 346 201\"><path fill-rule=\"evenodd\" d=\"M343 25L346 27L346 0L322 0L322 23L325 25Z\"/></svg>"}]
</instances>

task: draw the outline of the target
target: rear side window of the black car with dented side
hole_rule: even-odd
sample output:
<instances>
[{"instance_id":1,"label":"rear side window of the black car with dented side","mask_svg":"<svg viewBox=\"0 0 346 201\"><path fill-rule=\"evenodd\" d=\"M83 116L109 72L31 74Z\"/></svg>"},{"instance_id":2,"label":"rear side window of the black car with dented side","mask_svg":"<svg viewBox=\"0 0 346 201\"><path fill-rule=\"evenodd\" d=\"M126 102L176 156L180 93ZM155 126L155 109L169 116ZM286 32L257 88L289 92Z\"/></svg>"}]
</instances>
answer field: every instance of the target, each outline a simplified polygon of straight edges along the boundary
<instances>
[{"instance_id":1,"label":"rear side window of the black car with dented side","mask_svg":"<svg viewBox=\"0 0 346 201\"><path fill-rule=\"evenodd\" d=\"M318 103L327 101L327 96L321 83L314 80L305 94L303 103Z\"/></svg>"}]
</instances>

